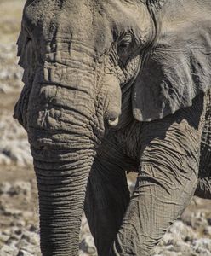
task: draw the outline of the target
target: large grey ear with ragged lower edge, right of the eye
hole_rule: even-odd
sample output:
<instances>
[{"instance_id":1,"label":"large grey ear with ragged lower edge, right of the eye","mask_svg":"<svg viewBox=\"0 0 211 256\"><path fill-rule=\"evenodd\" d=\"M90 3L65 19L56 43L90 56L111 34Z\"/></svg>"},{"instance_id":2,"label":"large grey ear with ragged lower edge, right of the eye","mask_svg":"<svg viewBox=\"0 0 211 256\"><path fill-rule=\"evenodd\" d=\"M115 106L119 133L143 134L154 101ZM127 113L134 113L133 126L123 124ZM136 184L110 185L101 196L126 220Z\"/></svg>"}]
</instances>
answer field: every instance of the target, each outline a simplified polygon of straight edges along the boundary
<instances>
[{"instance_id":1,"label":"large grey ear with ragged lower edge, right of the eye","mask_svg":"<svg viewBox=\"0 0 211 256\"><path fill-rule=\"evenodd\" d=\"M139 121L162 119L191 106L211 85L211 2L169 0L154 10L153 18L157 35L132 93Z\"/></svg>"}]
</instances>

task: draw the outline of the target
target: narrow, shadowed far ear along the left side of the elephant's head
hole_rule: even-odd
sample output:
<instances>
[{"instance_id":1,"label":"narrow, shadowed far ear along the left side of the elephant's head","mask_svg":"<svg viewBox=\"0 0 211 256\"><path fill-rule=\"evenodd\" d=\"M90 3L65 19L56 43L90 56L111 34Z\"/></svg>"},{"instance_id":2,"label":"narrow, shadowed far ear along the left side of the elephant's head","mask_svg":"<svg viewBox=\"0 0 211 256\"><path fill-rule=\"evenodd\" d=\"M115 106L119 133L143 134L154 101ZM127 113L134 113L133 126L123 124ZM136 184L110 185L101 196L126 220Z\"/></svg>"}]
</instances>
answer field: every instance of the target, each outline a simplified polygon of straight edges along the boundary
<instances>
[{"instance_id":1,"label":"narrow, shadowed far ear along the left side of the elephant's head","mask_svg":"<svg viewBox=\"0 0 211 256\"><path fill-rule=\"evenodd\" d=\"M37 61L31 38L28 37L28 33L23 25L21 27L17 45L17 55L20 57L19 65L24 68L22 81L25 85L20 93L18 102L14 107L14 119L18 119L20 125L23 125L26 128L26 112Z\"/></svg>"}]
</instances>

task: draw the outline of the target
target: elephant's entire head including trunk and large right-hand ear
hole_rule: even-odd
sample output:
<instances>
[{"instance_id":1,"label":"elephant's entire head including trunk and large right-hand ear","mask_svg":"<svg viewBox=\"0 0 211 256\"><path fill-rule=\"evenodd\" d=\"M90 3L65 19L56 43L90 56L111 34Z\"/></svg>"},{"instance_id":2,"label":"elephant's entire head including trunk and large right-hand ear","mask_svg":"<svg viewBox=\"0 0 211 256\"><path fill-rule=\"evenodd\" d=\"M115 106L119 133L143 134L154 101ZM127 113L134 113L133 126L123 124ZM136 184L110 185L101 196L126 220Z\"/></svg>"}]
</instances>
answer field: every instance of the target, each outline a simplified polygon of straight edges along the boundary
<instances>
[{"instance_id":1,"label":"elephant's entire head including trunk and large right-hand ear","mask_svg":"<svg viewBox=\"0 0 211 256\"><path fill-rule=\"evenodd\" d=\"M31 143L44 256L77 254L105 131L163 119L208 89L207 9L196 0L26 1L18 40L25 87L14 117Z\"/></svg>"}]
</instances>

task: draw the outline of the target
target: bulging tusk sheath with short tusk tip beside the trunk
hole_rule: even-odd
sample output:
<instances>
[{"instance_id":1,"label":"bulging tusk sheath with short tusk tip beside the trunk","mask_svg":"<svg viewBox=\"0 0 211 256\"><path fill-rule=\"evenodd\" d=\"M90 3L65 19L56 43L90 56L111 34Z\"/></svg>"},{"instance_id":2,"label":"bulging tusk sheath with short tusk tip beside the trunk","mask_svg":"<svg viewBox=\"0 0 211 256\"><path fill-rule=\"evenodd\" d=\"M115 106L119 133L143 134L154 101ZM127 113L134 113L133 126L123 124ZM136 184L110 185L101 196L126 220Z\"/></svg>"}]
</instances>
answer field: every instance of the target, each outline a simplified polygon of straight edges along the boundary
<instances>
[{"instance_id":1,"label":"bulging tusk sheath with short tusk tip beside the trunk","mask_svg":"<svg viewBox=\"0 0 211 256\"><path fill-rule=\"evenodd\" d=\"M115 127L118 125L119 115L121 114L122 92L120 84L113 74L107 74L104 86L106 87L106 94L108 96L106 119L108 125Z\"/></svg>"}]
</instances>

